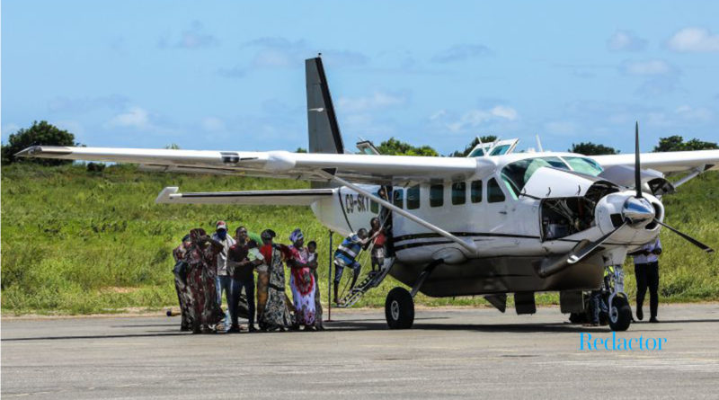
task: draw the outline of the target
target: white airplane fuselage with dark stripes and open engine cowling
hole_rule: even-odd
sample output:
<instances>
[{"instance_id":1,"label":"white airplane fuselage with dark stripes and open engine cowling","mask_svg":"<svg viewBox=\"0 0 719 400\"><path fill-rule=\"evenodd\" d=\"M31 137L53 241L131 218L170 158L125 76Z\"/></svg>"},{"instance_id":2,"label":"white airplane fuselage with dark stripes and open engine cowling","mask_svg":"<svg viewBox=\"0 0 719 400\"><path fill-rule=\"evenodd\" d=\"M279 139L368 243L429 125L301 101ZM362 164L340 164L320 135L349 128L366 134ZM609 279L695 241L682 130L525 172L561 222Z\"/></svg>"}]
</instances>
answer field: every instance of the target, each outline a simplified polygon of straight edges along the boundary
<instances>
[{"instance_id":1,"label":"white airplane fuselage with dark stripes and open engine cowling","mask_svg":"<svg viewBox=\"0 0 719 400\"><path fill-rule=\"evenodd\" d=\"M577 232L551 237L548 235L551 224L546 221L546 204L561 202L564 198L580 199L581 202L593 183L590 177L569 169L546 168L529 179L525 186L528 192L517 195L506 182L506 176L502 176L502 168L520 160L549 157L564 160L563 156L577 155L493 156L487 157L497 166L493 173L449 182L395 185L394 191L401 193L393 196L395 206L474 243L476 253L393 213L391 234L396 262L390 274L411 286L428 263L441 258L444 262L432 272L421 289L435 297L598 288L603 267L623 263L627 251L652 241L659 235L660 226L624 227L598 253L553 276L540 278L537 275L539 262L570 253L581 241L595 241L611 232L617 227L611 215L621 214L626 200L635 196L635 191L621 189L602 195L596 204L590 205L592 215L585 216L585 225ZM460 190L462 187L464 191ZM362 185L362 188L376 193L380 186ZM412 194L410 188L413 188ZM662 220L661 201L649 193L644 197L657 210L656 218ZM312 209L325 227L347 235L361 227L368 228L369 220L379 215L381 206L342 186L334 189L332 197L315 201Z\"/></svg>"}]
</instances>

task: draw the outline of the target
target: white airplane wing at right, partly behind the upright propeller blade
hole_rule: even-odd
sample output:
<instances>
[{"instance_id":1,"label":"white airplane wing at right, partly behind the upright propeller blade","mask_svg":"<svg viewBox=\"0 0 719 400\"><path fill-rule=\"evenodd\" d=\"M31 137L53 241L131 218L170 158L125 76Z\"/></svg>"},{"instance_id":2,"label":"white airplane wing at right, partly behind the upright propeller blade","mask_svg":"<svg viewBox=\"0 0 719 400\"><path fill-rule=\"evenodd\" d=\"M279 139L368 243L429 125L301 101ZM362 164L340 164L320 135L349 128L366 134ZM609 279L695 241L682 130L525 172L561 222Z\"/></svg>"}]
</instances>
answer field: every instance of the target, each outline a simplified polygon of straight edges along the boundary
<instances>
[{"instance_id":1,"label":"white airplane wing at right, partly behind the upright propeller blade","mask_svg":"<svg viewBox=\"0 0 719 400\"><path fill-rule=\"evenodd\" d=\"M634 170L635 155L591 156L602 168L623 165ZM719 150L673 151L666 153L642 153L642 168L661 173L719 170Z\"/></svg>"}]
</instances>

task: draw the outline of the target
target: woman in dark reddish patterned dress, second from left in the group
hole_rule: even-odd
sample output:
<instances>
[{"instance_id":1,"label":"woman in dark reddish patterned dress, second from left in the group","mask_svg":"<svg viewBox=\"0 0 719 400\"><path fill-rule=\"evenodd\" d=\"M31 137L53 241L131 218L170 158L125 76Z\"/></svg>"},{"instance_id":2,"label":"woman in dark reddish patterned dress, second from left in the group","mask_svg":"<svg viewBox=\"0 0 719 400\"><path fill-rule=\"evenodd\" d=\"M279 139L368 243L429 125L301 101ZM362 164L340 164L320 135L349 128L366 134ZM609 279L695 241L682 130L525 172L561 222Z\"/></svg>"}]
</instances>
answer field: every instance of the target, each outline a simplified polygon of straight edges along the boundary
<instances>
[{"instance_id":1,"label":"woman in dark reddish patterned dress, second from left in the group","mask_svg":"<svg viewBox=\"0 0 719 400\"><path fill-rule=\"evenodd\" d=\"M217 304L215 287L216 257L222 250L222 244L212 240L204 229L190 231L192 244L185 254L185 262L190 266L187 284L191 292L192 333L213 332L214 325L225 319L225 313Z\"/></svg>"}]
</instances>

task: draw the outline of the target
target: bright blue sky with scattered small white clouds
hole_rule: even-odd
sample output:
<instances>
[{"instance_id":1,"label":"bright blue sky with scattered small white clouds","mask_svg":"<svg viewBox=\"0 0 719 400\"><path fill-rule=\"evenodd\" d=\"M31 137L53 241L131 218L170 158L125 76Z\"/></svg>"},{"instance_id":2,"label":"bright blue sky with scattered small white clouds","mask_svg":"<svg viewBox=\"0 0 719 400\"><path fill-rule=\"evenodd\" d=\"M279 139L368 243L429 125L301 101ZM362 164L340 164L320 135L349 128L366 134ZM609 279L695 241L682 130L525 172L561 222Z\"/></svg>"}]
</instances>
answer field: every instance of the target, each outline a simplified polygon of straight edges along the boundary
<instances>
[{"instance_id":1,"label":"bright blue sky with scattered small white clouds","mask_svg":"<svg viewBox=\"0 0 719 400\"><path fill-rule=\"evenodd\" d=\"M48 120L87 146L307 147L323 54L345 147L440 154L478 135L565 151L719 141L719 2L38 1L0 8L2 140Z\"/></svg>"}]
</instances>

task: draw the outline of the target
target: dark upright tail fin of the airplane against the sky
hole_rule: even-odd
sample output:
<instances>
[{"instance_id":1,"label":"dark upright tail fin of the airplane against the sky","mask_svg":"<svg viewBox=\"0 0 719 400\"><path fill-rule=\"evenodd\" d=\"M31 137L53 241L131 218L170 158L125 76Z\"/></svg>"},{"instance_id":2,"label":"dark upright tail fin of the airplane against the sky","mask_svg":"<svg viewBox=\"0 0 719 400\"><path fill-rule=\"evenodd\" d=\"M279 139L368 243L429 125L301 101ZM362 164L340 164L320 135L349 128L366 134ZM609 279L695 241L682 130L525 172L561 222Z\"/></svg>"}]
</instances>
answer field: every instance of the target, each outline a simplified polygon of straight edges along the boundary
<instances>
[{"instance_id":1,"label":"dark upright tail fin of the airplane against the sky","mask_svg":"<svg viewBox=\"0 0 719 400\"><path fill-rule=\"evenodd\" d=\"M344 144L334 113L330 87L322 58L305 60L307 84L307 130L310 153L343 154Z\"/></svg>"}]
</instances>

